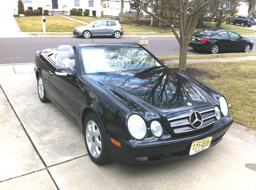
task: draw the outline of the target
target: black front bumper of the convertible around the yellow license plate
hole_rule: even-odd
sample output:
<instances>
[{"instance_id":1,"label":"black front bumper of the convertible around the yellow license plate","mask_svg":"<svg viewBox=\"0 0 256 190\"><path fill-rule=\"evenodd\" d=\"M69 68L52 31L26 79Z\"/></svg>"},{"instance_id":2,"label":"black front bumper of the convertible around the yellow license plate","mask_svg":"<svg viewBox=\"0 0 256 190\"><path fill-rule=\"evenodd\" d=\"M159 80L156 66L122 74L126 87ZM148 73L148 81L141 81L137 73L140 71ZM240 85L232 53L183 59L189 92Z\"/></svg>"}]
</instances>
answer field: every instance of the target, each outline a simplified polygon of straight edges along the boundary
<instances>
[{"instance_id":1,"label":"black front bumper of the convertible around the yellow license plate","mask_svg":"<svg viewBox=\"0 0 256 190\"><path fill-rule=\"evenodd\" d=\"M221 141L233 122L233 118L228 115L217 121L211 129L203 133L197 133L185 137L175 137L163 141L161 144L150 146L130 146L122 143L119 148L113 144L109 145L111 159L121 162L124 165L134 166L174 160L189 156L190 146L194 141L212 137L210 147ZM146 161L138 161L138 157L147 157Z\"/></svg>"}]
</instances>

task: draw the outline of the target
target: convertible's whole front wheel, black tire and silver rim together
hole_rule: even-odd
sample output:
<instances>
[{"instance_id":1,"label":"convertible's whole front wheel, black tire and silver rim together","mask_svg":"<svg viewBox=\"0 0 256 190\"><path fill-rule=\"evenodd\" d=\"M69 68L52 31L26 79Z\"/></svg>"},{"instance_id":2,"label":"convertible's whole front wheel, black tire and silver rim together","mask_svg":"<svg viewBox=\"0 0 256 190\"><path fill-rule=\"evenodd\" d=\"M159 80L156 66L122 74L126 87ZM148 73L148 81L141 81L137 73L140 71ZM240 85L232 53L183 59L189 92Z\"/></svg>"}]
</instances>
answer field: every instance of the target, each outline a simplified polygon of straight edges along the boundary
<instances>
[{"instance_id":1,"label":"convertible's whole front wheel, black tire and silver rim together","mask_svg":"<svg viewBox=\"0 0 256 190\"><path fill-rule=\"evenodd\" d=\"M83 124L84 142L87 152L93 162L104 165L111 162L106 146L106 134L100 119L90 113Z\"/></svg>"}]
</instances>

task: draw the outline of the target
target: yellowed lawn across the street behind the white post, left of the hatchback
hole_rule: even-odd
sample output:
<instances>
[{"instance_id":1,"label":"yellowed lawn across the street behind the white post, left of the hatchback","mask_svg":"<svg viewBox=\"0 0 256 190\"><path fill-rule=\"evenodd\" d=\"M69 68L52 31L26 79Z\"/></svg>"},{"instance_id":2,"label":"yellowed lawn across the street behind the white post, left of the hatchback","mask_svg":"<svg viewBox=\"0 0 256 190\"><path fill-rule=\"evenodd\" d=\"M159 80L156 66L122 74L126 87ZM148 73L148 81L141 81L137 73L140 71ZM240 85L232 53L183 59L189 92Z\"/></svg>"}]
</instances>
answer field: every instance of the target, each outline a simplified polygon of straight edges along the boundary
<instances>
[{"instance_id":1,"label":"yellowed lawn across the street behind the white post, left of the hatchback","mask_svg":"<svg viewBox=\"0 0 256 190\"><path fill-rule=\"evenodd\" d=\"M42 32L41 16L16 17L23 32ZM46 32L72 32L79 22L60 16L46 16Z\"/></svg>"}]
</instances>

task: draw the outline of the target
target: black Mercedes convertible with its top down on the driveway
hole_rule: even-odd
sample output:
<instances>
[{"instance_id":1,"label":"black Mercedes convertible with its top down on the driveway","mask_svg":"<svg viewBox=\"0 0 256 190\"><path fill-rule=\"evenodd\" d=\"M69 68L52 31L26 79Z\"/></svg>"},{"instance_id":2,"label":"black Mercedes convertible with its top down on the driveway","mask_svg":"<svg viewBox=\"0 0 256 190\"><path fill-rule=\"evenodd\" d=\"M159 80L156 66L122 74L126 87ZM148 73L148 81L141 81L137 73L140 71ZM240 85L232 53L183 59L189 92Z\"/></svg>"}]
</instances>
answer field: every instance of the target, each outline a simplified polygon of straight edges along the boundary
<instances>
[{"instance_id":1,"label":"black Mercedes convertible with its top down on the driveway","mask_svg":"<svg viewBox=\"0 0 256 190\"><path fill-rule=\"evenodd\" d=\"M40 100L77 123L99 165L193 155L219 143L233 122L220 92L137 43L61 45L37 51L35 62Z\"/></svg>"}]
</instances>

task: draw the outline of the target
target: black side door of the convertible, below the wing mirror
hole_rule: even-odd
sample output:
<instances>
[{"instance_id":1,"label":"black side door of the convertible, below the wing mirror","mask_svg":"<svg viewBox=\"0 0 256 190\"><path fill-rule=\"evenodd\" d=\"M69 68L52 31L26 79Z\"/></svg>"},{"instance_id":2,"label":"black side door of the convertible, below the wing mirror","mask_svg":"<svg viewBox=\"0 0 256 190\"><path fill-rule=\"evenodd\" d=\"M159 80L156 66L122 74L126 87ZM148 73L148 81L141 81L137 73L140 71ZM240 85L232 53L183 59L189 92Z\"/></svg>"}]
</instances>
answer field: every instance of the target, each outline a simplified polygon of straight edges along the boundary
<instances>
[{"instance_id":1,"label":"black side door of the convertible, below the wing mirror","mask_svg":"<svg viewBox=\"0 0 256 190\"><path fill-rule=\"evenodd\" d=\"M75 118L75 69L73 70L72 75L67 76L57 75L56 69L57 67L54 65L50 66L49 84L51 89L51 97L61 108L63 108L63 110Z\"/></svg>"}]
</instances>

